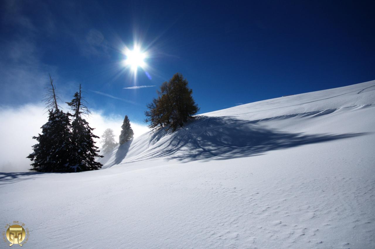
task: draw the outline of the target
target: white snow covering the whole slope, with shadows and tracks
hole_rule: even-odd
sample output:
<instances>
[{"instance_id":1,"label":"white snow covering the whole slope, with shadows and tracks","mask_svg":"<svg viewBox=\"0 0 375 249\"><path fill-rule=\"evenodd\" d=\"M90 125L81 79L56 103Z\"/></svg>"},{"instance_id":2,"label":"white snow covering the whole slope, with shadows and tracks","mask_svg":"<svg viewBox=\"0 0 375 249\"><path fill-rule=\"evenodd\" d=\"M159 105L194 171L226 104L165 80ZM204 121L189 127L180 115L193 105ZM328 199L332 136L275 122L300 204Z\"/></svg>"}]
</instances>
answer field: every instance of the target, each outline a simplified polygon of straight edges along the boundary
<instances>
[{"instance_id":1,"label":"white snow covering the whole slope, with shadows and tracks","mask_svg":"<svg viewBox=\"0 0 375 249\"><path fill-rule=\"evenodd\" d=\"M23 248L375 248L374 149L375 81L244 104L102 170L1 173L0 224Z\"/></svg>"}]
</instances>

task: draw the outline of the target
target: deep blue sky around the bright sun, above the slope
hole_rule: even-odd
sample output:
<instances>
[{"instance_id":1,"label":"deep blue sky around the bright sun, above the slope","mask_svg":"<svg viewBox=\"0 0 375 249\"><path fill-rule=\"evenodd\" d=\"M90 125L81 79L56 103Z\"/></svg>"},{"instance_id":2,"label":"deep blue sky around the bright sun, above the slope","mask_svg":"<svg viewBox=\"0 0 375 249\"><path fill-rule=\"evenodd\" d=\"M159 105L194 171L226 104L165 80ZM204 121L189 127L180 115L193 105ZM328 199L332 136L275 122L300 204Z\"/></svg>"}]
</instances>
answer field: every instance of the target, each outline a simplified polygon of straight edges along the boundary
<instances>
[{"instance_id":1,"label":"deep blue sky around the bright sun, above the slope","mask_svg":"<svg viewBox=\"0 0 375 249\"><path fill-rule=\"evenodd\" d=\"M374 1L171 2L2 1L0 105L40 103L48 73L63 101L82 83L91 109L136 122L176 72L199 113L375 79ZM133 41L151 79L121 67Z\"/></svg>"}]
</instances>

